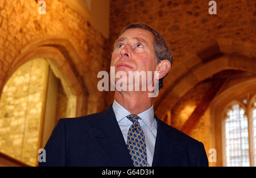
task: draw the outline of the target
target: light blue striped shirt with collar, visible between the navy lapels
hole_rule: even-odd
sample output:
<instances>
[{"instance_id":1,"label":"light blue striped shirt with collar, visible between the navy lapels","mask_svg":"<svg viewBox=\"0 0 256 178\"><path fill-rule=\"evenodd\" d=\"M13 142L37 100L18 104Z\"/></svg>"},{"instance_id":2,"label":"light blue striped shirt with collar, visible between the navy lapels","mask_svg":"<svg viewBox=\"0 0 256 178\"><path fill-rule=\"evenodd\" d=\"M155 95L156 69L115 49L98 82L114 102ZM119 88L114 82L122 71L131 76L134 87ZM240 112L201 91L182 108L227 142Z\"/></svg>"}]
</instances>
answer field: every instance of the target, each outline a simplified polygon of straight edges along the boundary
<instances>
[{"instance_id":1,"label":"light blue striped shirt with collar, visible between the navy lapels","mask_svg":"<svg viewBox=\"0 0 256 178\"><path fill-rule=\"evenodd\" d=\"M127 134L133 122L131 122L126 116L130 115L131 113L125 109L125 107L118 104L118 102L115 100L113 102L113 110L115 113L115 118L117 118L118 125L122 131L123 138L125 139L125 143L127 143ZM152 166L157 131L157 123L156 119L154 118L153 105L146 111L143 111L137 115L141 118L139 119L139 125L142 127L146 140L147 166Z\"/></svg>"}]
</instances>

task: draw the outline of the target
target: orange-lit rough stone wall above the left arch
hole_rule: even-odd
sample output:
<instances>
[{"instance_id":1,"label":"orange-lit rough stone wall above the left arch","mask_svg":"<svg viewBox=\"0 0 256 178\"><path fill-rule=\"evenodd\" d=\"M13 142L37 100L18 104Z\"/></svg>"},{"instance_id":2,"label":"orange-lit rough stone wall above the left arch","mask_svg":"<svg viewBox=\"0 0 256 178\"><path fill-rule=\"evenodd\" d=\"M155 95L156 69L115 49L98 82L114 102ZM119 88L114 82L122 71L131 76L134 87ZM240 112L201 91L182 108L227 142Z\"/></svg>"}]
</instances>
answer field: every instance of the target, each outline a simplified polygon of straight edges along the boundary
<instances>
[{"instance_id":1,"label":"orange-lit rough stone wall above the left arch","mask_svg":"<svg viewBox=\"0 0 256 178\"><path fill-rule=\"evenodd\" d=\"M79 56L69 61L73 64L71 68L76 74L75 77L81 78L84 83L88 76L95 78L95 82L93 80L90 83L92 86L81 86L88 95L94 93L91 100L98 101L102 93L97 93L96 78L98 71L105 69L109 60L106 59L108 41L100 32L94 30L90 19L82 18L64 1L46 0L45 15L38 14L37 2L0 0L0 90L8 79L7 76L10 76L14 64L19 62L17 56L24 47L35 41L40 43L44 39L50 39L50 44L55 44L56 39L65 39L75 49L67 49L67 55L76 52ZM60 70L65 71L66 68ZM68 77L70 81L75 81L72 75ZM104 102L98 102L93 111L104 107Z\"/></svg>"}]
</instances>

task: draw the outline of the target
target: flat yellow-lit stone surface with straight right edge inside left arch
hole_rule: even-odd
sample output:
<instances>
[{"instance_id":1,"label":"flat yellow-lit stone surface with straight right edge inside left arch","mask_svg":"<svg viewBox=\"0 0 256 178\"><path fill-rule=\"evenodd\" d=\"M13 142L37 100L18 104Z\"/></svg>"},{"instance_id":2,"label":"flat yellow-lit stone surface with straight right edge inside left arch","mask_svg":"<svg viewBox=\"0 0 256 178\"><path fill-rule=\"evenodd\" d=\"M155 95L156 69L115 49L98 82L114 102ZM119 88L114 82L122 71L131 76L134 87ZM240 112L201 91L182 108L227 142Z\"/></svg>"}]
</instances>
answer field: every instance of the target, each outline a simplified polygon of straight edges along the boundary
<instances>
[{"instance_id":1,"label":"flat yellow-lit stone surface with straight right edge inside left arch","mask_svg":"<svg viewBox=\"0 0 256 178\"><path fill-rule=\"evenodd\" d=\"M22 65L0 100L0 151L29 165L37 164L48 69L42 59Z\"/></svg>"}]
</instances>

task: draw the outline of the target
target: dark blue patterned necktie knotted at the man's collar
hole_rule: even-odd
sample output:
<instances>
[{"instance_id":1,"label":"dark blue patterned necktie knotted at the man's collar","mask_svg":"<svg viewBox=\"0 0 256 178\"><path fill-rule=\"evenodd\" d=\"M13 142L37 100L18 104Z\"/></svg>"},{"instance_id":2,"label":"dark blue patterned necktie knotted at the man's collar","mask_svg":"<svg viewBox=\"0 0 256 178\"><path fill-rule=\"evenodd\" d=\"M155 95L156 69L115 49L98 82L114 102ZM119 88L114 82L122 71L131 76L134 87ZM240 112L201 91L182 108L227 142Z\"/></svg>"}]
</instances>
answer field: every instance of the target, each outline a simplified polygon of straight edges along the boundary
<instances>
[{"instance_id":1,"label":"dark blue patterned necktie knotted at the man's collar","mask_svg":"<svg viewBox=\"0 0 256 178\"><path fill-rule=\"evenodd\" d=\"M130 114L127 118L133 122L127 135L127 149L130 153L133 165L136 167L147 166L147 151L145 136L139 125L138 115Z\"/></svg>"}]
</instances>

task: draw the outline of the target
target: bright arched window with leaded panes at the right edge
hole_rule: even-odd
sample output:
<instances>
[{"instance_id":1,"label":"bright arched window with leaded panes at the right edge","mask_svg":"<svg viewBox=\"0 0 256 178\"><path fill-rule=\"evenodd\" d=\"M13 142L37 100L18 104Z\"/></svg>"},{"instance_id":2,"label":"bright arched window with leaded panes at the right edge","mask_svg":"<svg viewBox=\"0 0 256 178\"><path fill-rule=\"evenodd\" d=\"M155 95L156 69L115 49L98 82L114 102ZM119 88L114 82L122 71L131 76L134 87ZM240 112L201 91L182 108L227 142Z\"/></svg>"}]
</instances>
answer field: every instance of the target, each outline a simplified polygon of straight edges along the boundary
<instances>
[{"instance_id":1,"label":"bright arched window with leaded panes at the right edge","mask_svg":"<svg viewBox=\"0 0 256 178\"><path fill-rule=\"evenodd\" d=\"M224 110L223 140L226 166L254 166L256 143L255 96L232 101Z\"/></svg>"}]
</instances>

